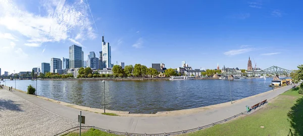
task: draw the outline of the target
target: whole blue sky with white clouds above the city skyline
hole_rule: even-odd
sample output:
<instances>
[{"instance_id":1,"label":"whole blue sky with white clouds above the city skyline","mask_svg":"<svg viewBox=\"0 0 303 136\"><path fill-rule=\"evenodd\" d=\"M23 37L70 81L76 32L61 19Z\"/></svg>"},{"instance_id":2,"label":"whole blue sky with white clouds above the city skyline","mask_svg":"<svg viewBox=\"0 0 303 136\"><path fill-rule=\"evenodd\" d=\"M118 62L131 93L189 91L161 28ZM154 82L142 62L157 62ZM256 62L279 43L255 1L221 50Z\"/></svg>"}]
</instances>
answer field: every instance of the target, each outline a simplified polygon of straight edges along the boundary
<instances>
[{"instance_id":1,"label":"whole blue sky with white clouds above the city skyline","mask_svg":"<svg viewBox=\"0 0 303 136\"><path fill-rule=\"evenodd\" d=\"M72 44L112 62L177 68L296 69L302 64L302 1L0 1L0 68L29 71L68 58ZM4 72L2 72L3 74Z\"/></svg>"}]
</instances>

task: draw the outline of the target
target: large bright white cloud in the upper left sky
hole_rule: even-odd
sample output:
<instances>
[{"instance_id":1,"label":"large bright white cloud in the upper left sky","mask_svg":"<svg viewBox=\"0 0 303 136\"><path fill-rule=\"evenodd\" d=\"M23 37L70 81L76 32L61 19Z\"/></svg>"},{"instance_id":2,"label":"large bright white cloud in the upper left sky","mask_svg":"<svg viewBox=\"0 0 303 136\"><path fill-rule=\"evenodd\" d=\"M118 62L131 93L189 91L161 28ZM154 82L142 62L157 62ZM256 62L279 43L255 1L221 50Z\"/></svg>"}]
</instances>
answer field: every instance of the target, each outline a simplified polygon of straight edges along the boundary
<instances>
[{"instance_id":1,"label":"large bright white cloud in the upper left sky","mask_svg":"<svg viewBox=\"0 0 303 136\"><path fill-rule=\"evenodd\" d=\"M0 25L26 37L27 46L38 47L43 42L60 42L69 38L94 39L96 34L89 20L89 7L83 1L45 0L39 8L45 15L20 10L12 1L0 1ZM23 7L23 6L20 6ZM81 36L73 37L78 32ZM1 35L0 35L1 36ZM12 38L12 37L11 37Z\"/></svg>"}]
</instances>

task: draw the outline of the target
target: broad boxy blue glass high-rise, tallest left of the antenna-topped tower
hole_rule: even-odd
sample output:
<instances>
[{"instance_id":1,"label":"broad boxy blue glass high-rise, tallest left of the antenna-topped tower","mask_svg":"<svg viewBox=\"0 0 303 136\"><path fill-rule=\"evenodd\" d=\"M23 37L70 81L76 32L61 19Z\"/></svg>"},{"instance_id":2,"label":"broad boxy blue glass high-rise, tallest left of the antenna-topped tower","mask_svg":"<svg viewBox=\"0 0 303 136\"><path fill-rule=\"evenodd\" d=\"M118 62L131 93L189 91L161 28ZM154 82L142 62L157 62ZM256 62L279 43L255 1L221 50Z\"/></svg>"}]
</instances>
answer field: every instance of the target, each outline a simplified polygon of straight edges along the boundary
<instances>
[{"instance_id":1,"label":"broad boxy blue glass high-rise, tallest left of the antenna-topped tower","mask_svg":"<svg viewBox=\"0 0 303 136\"><path fill-rule=\"evenodd\" d=\"M75 44L69 47L69 67L80 68L83 66L82 48Z\"/></svg>"}]
</instances>

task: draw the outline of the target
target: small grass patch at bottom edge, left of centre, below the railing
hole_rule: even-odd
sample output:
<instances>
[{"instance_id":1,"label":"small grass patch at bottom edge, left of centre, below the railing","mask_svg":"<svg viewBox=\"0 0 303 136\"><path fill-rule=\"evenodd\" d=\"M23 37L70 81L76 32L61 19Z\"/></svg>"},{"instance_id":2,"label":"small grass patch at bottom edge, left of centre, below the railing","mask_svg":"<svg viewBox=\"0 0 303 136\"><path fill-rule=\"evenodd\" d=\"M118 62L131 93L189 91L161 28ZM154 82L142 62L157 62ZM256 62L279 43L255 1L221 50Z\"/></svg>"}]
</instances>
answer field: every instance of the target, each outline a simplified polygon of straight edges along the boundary
<instances>
[{"instance_id":1,"label":"small grass patch at bottom edge, left of centre, below the railing","mask_svg":"<svg viewBox=\"0 0 303 136\"><path fill-rule=\"evenodd\" d=\"M81 132L81 135L83 136L118 136L116 134L107 133L98 129L90 128L85 132ZM79 136L79 130L78 132L71 132L68 134L65 134L65 136Z\"/></svg>"}]
</instances>

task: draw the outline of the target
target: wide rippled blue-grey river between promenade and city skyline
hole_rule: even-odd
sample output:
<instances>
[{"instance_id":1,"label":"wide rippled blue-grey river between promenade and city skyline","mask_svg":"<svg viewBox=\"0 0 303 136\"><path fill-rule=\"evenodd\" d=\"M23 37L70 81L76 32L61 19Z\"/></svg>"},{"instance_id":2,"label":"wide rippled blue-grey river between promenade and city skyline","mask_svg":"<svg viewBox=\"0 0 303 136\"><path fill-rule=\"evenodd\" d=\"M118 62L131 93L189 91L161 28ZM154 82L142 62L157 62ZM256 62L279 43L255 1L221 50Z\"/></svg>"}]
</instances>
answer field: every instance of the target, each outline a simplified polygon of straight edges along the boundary
<instances>
[{"instance_id":1,"label":"wide rippled blue-grey river between promenade and city skyline","mask_svg":"<svg viewBox=\"0 0 303 136\"><path fill-rule=\"evenodd\" d=\"M105 81L106 109L151 113L191 109L254 96L271 90L272 78L231 80L148 80ZM3 84L3 81L1 81ZM16 80L17 89L26 91L34 80ZM230 85L229 85L230 84ZM6 80L15 87L15 81ZM38 80L37 95L71 104L104 107L104 83L81 80Z\"/></svg>"}]
</instances>

